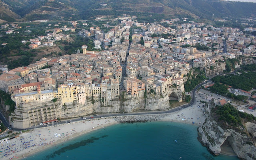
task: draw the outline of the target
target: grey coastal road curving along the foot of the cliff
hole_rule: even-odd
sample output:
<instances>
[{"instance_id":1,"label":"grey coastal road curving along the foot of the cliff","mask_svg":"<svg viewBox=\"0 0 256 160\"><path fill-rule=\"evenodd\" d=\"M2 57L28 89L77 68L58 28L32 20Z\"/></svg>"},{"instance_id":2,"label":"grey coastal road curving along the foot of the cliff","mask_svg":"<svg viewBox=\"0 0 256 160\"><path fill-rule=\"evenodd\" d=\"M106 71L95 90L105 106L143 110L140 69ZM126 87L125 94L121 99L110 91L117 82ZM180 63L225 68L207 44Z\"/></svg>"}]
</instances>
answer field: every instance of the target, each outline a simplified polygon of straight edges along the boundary
<instances>
[{"instance_id":1,"label":"grey coastal road curving along the foot of the cliff","mask_svg":"<svg viewBox=\"0 0 256 160\"><path fill-rule=\"evenodd\" d=\"M225 74L234 74L235 72L237 72L238 69L234 70L233 72L231 73L221 73L221 74L218 74L216 76L222 76L222 75L225 75ZM213 76L215 77L215 76ZM212 77L212 78L213 78ZM164 110L164 111L149 111L149 112L135 112L135 113L110 113L110 114L98 114L97 116L84 116L84 118L86 118L87 120L88 119L93 119L93 118L100 118L100 117L112 117L112 116L132 116L132 115L148 115L148 114L166 114L166 113L172 113L172 112L176 112L176 111L179 111L179 110L182 110L184 108L187 108L189 106L192 106L194 104L196 104L196 97L195 97L195 94L196 94L196 90L198 88L200 88L203 84L206 84L208 82L210 82L210 80L212 79L210 78L209 80L205 80L204 82L198 84L191 92L191 100L188 104L184 104L182 106L178 106L176 108L172 108L170 110ZM90 117L93 117L93 118L90 118ZM6 119L4 118L4 116L2 115L2 113L0 113L0 119L2 120L3 124L5 126L7 126L10 130L14 130L14 131L20 131L20 130L29 130L29 129L34 129L34 128L43 128L43 127L47 127L48 125L43 125L43 126L35 126L35 127L30 127L30 128L25 128L25 129L20 129L20 128L12 128L10 127L10 125L8 124L8 122L6 121ZM60 122L56 122L56 123L53 123L53 124L49 124L49 126L54 126L54 125L58 125L58 124L65 124L65 123L70 123L70 122L76 122L76 121L80 121L80 120L83 120L81 118L73 118L73 119L69 119L69 120L62 120Z\"/></svg>"}]
</instances>

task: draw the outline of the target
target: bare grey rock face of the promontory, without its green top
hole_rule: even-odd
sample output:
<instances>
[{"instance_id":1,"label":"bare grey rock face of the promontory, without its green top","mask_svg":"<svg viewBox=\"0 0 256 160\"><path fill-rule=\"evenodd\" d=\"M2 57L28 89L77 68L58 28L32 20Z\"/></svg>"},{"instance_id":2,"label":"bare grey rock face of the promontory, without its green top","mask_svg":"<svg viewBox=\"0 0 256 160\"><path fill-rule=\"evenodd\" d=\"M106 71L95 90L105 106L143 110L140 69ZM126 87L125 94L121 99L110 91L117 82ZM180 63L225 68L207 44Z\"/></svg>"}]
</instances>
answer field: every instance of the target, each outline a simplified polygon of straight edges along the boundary
<instances>
[{"instance_id":1,"label":"bare grey rock face of the promontory, without its green top","mask_svg":"<svg viewBox=\"0 0 256 160\"><path fill-rule=\"evenodd\" d=\"M208 108L211 108L209 104ZM207 109L206 109L207 110ZM207 110L208 111L208 110ZM208 112L209 113L209 112ZM216 118L207 115L202 127L198 128L198 140L215 155L221 152L222 144L229 144L238 158L256 160L256 124L246 122L244 127L227 127L219 125Z\"/></svg>"}]
</instances>

